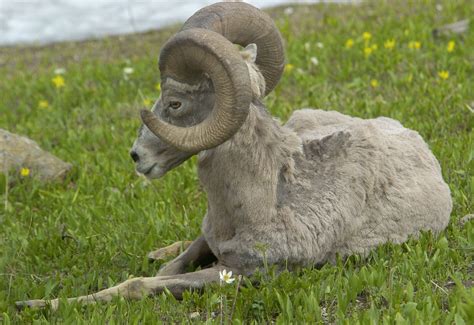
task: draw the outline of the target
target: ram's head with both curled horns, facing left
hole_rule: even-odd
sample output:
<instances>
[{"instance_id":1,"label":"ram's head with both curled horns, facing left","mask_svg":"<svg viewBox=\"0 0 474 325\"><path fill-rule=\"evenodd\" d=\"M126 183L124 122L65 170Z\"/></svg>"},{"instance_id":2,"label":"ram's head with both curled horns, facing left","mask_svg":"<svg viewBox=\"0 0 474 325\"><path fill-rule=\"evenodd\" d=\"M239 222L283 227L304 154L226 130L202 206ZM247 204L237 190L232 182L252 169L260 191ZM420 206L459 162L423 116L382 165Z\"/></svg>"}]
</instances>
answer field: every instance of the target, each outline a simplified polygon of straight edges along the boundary
<instances>
[{"instance_id":1,"label":"ram's head with both curled horns, facing left","mask_svg":"<svg viewBox=\"0 0 474 325\"><path fill-rule=\"evenodd\" d=\"M162 93L152 111L141 112L144 125L130 153L148 178L232 137L252 100L281 77L283 46L273 21L251 5L229 5L198 11L161 49Z\"/></svg>"}]
</instances>

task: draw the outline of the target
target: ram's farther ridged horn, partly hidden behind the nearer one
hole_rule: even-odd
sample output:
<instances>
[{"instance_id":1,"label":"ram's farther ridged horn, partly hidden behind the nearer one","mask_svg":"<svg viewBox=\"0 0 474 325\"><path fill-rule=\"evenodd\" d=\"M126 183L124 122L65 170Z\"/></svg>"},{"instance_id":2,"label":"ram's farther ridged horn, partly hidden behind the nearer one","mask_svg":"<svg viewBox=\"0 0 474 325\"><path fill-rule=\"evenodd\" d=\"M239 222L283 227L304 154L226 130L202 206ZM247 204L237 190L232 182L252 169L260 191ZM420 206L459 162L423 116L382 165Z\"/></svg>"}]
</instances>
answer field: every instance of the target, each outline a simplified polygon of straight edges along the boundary
<instances>
[{"instance_id":1,"label":"ram's farther ridged horn, partly hidden behind the nearer one","mask_svg":"<svg viewBox=\"0 0 474 325\"><path fill-rule=\"evenodd\" d=\"M263 11L243 2L216 3L197 11L182 30L193 28L212 30L241 46L255 43L255 63L265 78L265 96L280 81L285 67L283 43L275 23Z\"/></svg>"}]
</instances>

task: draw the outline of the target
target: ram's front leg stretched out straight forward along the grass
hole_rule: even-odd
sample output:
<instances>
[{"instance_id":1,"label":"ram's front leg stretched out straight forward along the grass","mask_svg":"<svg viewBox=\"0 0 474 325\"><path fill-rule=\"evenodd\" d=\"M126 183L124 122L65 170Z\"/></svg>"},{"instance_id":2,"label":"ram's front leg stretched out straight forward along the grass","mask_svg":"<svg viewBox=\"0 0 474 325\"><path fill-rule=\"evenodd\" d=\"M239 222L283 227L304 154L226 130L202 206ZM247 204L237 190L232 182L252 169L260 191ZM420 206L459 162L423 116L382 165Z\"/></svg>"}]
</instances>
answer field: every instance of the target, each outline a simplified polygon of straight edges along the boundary
<instances>
[{"instance_id":1,"label":"ram's front leg stretched out straight forward along the grass","mask_svg":"<svg viewBox=\"0 0 474 325\"><path fill-rule=\"evenodd\" d=\"M223 269L233 271L234 274L239 274L239 270L237 269L216 265L208 269L186 274L134 278L94 294L68 298L67 302L94 304L99 301L111 301L117 296L122 296L128 299L141 299L161 293L165 289L169 290L177 299L181 299L183 292L186 290L199 290L206 284L219 281L219 272ZM18 309L23 309L25 307L44 308L51 306L53 310L56 310L59 307L59 299L20 301L16 303L16 306Z\"/></svg>"}]
</instances>

